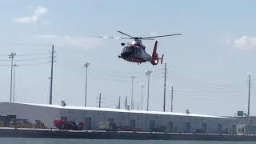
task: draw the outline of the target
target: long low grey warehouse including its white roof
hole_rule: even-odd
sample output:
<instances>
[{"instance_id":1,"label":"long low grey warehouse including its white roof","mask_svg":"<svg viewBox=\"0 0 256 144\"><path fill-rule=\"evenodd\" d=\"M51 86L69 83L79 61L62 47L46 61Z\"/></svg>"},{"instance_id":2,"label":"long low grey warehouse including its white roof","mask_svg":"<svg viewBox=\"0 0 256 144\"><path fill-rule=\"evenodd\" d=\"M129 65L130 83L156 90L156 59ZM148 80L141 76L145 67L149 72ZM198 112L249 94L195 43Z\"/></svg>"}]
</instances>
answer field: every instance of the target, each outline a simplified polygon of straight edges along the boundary
<instances>
[{"instance_id":1,"label":"long low grey warehouse including its white roof","mask_svg":"<svg viewBox=\"0 0 256 144\"><path fill-rule=\"evenodd\" d=\"M15 115L29 122L40 121L54 128L54 120L85 122L85 130L101 130L102 123L114 122L120 130L182 133L236 134L235 118L203 114L122 110L83 106L58 106L0 102L1 115Z\"/></svg>"}]
</instances>

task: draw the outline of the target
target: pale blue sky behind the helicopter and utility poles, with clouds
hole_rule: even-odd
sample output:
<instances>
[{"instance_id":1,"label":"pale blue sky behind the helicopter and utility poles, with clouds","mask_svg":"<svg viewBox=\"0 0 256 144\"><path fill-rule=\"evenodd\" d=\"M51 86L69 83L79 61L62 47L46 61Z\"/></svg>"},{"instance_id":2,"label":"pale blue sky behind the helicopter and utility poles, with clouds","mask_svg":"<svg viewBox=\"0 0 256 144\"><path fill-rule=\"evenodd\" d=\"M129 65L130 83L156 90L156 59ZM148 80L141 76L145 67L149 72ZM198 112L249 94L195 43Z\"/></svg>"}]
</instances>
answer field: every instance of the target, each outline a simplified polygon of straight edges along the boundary
<instances>
[{"instance_id":1,"label":"pale blue sky behind the helicopter and utility poles, with clouds","mask_svg":"<svg viewBox=\"0 0 256 144\"><path fill-rule=\"evenodd\" d=\"M163 67L125 62L117 55L122 40L116 31L147 36L183 33L158 39L158 54L167 63L167 110L174 86L174 111L234 115L247 105L247 78L252 76L251 114L256 69L256 10L254 1L1 1L0 65L8 65L15 52L17 102L47 103L51 45L56 48L54 103L83 106L85 69L90 62L88 105L115 107L118 97L130 98L134 75L134 101L150 79L150 110L162 110ZM145 41L151 53L154 42ZM10 66L0 66L0 101L10 94ZM146 106L146 88L143 90ZM146 108L146 107L145 107ZM144 108L144 109L145 109Z\"/></svg>"}]
</instances>

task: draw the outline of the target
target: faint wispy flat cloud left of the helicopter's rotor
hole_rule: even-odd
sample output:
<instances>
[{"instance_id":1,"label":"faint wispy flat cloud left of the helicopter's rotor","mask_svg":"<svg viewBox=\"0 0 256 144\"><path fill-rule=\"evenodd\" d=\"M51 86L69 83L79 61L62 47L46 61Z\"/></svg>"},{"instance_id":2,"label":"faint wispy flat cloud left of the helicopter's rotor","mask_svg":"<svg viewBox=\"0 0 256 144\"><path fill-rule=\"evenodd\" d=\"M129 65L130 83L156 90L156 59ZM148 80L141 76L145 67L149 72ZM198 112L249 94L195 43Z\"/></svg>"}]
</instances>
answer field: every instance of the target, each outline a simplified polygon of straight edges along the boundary
<instances>
[{"instance_id":1,"label":"faint wispy flat cloud left of the helicopter's rotor","mask_svg":"<svg viewBox=\"0 0 256 144\"><path fill-rule=\"evenodd\" d=\"M69 35L39 34L36 35L36 38L41 42L43 41L48 44L54 44L57 46L74 46L84 49L89 49L102 44L101 38L71 37Z\"/></svg>"}]
</instances>

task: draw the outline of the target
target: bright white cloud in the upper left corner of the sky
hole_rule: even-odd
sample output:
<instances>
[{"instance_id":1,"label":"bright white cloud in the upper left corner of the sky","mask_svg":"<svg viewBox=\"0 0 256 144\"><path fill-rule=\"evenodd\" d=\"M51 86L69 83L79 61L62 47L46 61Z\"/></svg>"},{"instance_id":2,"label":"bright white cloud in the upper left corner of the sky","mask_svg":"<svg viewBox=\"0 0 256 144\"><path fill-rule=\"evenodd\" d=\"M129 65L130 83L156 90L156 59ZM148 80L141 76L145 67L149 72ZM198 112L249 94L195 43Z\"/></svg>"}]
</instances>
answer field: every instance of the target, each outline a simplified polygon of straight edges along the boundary
<instances>
[{"instance_id":1,"label":"bright white cloud in the upper left corner of the sky","mask_svg":"<svg viewBox=\"0 0 256 144\"><path fill-rule=\"evenodd\" d=\"M38 22L39 18L41 18L44 14L46 14L48 10L45 7L37 6L34 9L34 13L30 16L20 17L20 18L14 18L14 22L18 23L35 23Z\"/></svg>"}]
</instances>

